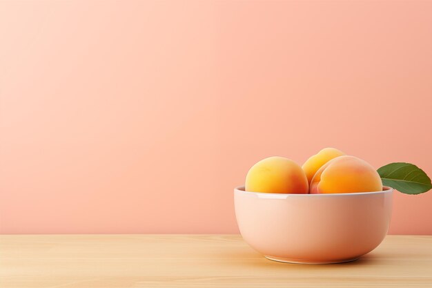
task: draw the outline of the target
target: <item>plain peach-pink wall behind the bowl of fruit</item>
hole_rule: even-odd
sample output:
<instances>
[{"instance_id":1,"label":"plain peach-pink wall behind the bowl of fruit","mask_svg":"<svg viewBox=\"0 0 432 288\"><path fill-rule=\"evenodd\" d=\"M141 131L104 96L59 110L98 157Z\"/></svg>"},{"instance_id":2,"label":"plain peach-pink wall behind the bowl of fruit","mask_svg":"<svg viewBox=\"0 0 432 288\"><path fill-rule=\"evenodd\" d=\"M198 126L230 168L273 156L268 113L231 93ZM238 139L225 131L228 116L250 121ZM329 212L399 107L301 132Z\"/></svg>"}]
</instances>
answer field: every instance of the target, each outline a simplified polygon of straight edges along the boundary
<instances>
[{"instance_id":1,"label":"plain peach-pink wall behind the bowl of fruit","mask_svg":"<svg viewBox=\"0 0 432 288\"><path fill-rule=\"evenodd\" d=\"M0 233L236 233L325 146L432 175L431 1L1 1ZM432 234L432 192L391 233Z\"/></svg>"}]
</instances>

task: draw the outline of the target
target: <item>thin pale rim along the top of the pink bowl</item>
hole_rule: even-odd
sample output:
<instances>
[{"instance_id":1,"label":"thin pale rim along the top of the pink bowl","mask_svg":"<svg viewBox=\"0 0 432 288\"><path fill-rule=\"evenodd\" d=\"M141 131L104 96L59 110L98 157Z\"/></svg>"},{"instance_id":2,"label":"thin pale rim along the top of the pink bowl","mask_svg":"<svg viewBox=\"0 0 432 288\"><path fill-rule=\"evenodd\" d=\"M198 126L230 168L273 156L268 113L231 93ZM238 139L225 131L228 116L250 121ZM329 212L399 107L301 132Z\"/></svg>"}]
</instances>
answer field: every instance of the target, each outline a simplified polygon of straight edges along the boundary
<instances>
[{"instance_id":1,"label":"thin pale rim along the top of the pink bowl","mask_svg":"<svg viewBox=\"0 0 432 288\"><path fill-rule=\"evenodd\" d=\"M271 198L271 199L284 199L287 197L350 197L355 195L375 195L392 193L393 188L389 186L382 186L382 191L373 192L353 192L353 193L321 193L321 194L295 194L295 193L265 193L265 192L252 192L244 191L244 185L237 186L234 189L234 193L244 193L250 195L257 195L259 198Z\"/></svg>"}]
</instances>

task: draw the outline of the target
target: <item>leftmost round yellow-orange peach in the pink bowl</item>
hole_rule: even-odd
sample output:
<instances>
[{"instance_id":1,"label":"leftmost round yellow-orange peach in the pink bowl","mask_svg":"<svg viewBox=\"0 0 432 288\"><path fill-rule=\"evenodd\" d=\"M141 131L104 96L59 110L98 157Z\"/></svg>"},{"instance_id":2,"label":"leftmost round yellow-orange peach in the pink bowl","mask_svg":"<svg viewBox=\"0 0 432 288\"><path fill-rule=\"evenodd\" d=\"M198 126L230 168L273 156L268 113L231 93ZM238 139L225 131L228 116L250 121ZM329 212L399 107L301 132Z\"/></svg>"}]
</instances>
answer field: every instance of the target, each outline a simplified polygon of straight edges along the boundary
<instances>
[{"instance_id":1,"label":"leftmost round yellow-orange peach in the pink bowl","mask_svg":"<svg viewBox=\"0 0 432 288\"><path fill-rule=\"evenodd\" d=\"M308 179L297 163L285 157L257 162L246 175L245 190L264 193L308 193Z\"/></svg>"}]
</instances>

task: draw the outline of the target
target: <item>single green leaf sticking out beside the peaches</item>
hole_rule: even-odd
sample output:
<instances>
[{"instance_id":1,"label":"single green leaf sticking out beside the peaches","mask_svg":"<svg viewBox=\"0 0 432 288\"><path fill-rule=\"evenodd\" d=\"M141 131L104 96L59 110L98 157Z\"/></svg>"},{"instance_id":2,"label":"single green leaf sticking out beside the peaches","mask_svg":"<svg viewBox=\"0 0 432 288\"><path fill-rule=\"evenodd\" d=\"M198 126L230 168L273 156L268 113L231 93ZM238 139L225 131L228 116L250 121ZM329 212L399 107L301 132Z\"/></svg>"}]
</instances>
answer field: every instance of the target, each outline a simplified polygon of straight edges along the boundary
<instances>
[{"instance_id":1,"label":"single green leaf sticking out beside the peaches","mask_svg":"<svg viewBox=\"0 0 432 288\"><path fill-rule=\"evenodd\" d=\"M432 189L431 178L414 164L391 163L377 171L384 186L391 186L405 194L420 194Z\"/></svg>"}]
</instances>

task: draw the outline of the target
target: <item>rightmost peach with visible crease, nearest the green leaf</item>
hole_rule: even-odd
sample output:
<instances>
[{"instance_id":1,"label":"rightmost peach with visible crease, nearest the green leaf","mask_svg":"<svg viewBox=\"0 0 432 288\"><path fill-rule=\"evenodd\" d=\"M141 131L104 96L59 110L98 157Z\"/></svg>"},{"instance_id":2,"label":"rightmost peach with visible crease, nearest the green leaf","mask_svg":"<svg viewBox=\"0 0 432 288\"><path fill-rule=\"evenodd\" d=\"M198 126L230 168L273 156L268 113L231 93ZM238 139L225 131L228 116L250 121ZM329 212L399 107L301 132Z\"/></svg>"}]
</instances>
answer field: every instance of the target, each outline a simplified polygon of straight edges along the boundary
<instances>
[{"instance_id":1,"label":"rightmost peach with visible crease, nearest the green leaf","mask_svg":"<svg viewBox=\"0 0 432 288\"><path fill-rule=\"evenodd\" d=\"M380 175L368 162L354 156L328 161L312 178L309 193L382 191Z\"/></svg>"}]
</instances>

